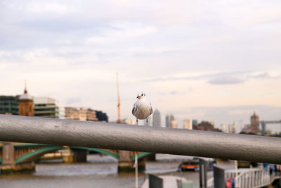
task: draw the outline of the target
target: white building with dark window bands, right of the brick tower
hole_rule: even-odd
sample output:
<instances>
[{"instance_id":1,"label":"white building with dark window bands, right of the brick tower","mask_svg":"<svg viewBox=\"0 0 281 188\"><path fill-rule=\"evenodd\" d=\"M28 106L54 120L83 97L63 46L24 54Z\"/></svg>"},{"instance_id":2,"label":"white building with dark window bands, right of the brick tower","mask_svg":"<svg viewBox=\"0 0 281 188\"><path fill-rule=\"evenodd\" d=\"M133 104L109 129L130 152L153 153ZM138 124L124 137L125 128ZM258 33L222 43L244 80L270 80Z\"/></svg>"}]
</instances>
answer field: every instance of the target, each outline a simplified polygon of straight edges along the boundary
<instances>
[{"instance_id":1,"label":"white building with dark window bands, right of the brick tower","mask_svg":"<svg viewBox=\"0 0 281 188\"><path fill-rule=\"evenodd\" d=\"M34 116L41 118L65 118L65 109L50 97L34 97Z\"/></svg>"}]
</instances>

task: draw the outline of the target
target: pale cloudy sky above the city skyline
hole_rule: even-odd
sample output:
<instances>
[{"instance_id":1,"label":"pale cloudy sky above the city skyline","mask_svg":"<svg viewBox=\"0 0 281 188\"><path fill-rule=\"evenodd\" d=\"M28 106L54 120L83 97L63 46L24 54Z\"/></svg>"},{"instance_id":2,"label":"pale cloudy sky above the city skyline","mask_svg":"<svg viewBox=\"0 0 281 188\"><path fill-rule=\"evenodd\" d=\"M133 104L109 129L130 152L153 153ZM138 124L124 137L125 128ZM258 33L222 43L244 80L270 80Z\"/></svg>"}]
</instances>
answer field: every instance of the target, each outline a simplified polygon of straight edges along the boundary
<instances>
[{"instance_id":1,"label":"pale cloudy sky above the city skyline","mask_svg":"<svg viewBox=\"0 0 281 188\"><path fill-rule=\"evenodd\" d=\"M218 127L281 119L281 1L0 1L0 94L117 119L153 108ZM162 123L164 124L164 122ZM280 128L281 130L281 128Z\"/></svg>"}]
</instances>

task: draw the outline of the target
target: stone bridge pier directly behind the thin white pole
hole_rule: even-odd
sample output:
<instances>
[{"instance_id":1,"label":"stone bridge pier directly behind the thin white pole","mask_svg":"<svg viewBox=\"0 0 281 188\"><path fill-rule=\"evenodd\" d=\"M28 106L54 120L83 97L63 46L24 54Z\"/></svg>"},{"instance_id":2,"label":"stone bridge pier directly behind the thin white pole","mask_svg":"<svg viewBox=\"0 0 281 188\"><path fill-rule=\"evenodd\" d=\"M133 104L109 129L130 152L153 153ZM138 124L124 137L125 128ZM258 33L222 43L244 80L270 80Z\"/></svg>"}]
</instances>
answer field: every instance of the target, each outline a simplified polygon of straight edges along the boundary
<instances>
[{"instance_id":1,"label":"stone bridge pier directly behind the thin white pole","mask_svg":"<svg viewBox=\"0 0 281 188\"><path fill-rule=\"evenodd\" d=\"M118 173L129 173L134 172L133 167L134 161L131 161L131 151L119 151L118 161ZM138 161L138 171L142 172L145 170L145 162L143 160Z\"/></svg>"}]
</instances>

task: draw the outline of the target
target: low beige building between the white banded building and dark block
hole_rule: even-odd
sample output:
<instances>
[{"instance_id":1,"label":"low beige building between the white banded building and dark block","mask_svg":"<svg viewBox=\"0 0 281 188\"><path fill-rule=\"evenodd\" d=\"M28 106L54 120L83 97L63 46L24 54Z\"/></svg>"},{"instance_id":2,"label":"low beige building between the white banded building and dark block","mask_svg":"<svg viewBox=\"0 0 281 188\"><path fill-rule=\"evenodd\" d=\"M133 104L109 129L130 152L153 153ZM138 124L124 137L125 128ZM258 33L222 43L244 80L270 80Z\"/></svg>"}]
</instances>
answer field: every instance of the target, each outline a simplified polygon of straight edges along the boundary
<instances>
[{"instance_id":1,"label":"low beige building between the white banded building and dark block","mask_svg":"<svg viewBox=\"0 0 281 188\"><path fill-rule=\"evenodd\" d=\"M96 111L91 108L65 108L65 119L67 120L88 120L88 121L97 121Z\"/></svg>"}]
</instances>

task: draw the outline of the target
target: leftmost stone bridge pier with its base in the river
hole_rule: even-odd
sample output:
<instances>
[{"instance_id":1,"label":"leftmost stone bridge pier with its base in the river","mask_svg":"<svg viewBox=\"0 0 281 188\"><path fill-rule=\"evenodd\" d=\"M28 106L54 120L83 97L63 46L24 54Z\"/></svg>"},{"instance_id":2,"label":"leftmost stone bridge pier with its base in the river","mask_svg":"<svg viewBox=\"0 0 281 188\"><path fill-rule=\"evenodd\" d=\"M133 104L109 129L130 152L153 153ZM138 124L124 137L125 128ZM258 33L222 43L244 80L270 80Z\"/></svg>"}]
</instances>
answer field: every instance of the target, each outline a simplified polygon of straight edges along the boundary
<instances>
[{"instance_id":1,"label":"leftmost stone bridge pier with its base in the river","mask_svg":"<svg viewBox=\"0 0 281 188\"><path fill-rule=\"evenodd\" d=\"M3 142L1 174L33 173L34 162L15 163L15 148L13 142Z\"/></svg>"}]
</instances>

